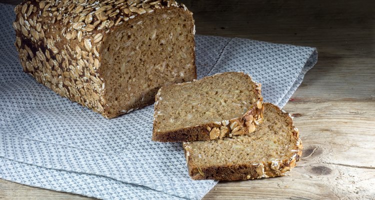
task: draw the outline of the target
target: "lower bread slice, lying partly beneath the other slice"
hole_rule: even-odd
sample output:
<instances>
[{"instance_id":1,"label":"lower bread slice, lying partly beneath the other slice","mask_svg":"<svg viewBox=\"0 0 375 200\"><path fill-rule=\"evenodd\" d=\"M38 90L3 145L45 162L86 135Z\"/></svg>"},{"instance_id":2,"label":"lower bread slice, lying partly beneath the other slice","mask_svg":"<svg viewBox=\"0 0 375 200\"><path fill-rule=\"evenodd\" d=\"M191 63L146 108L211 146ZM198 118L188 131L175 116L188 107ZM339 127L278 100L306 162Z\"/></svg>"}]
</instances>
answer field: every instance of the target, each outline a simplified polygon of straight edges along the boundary
<instances>
[{"instance_id":1,"label":"lower bread slice, lying partly beneath the other slice","mask_svg":"<svg viewBox=\"0 0 375 200\"><path fill-rule=\"evenodd\" d=\"M192 179L238 180L284 175L302 154L298 129L277 106L264 103L263 122L246 135L183 142Z\"/></svg>"}]
</instances>

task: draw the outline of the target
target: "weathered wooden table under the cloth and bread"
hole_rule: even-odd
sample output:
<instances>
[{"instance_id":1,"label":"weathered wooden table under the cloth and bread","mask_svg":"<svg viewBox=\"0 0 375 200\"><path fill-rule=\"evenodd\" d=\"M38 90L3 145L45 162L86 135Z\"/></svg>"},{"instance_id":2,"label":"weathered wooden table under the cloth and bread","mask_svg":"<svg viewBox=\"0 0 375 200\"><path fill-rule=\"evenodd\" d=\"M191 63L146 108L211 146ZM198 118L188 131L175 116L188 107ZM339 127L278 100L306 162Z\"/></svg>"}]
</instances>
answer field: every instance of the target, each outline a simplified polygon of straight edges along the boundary
<instances>
[{"instance_id":1,"label":"weathered wooden table under the cloth and bread","mask_svg":"<svg viewBox=\"0 0 375 200\"><path fill-rule=\"evenodd\" d=\"M375 1L182 2L198 34L315 46L319 55L284 107L304 144L297 167L219 182L203 199L375 199ZM88 198L0 179L0 199Z\"/></svg>"}]
</instances>

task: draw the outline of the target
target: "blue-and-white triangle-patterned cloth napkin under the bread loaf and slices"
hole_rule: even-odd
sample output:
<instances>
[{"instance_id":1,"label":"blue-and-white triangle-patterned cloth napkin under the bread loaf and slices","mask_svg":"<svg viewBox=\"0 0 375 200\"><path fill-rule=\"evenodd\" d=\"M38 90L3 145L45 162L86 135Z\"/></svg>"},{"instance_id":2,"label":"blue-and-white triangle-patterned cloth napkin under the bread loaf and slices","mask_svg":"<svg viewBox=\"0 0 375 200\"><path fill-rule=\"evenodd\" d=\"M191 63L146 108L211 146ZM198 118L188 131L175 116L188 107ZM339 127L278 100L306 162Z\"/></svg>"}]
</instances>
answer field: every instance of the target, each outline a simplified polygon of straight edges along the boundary
<instances>
[{"instance_id":1,"label":"blue-and-white triangle-patterned cloth napkin under the bread loaf and slices","mask_svg":"<svg viewBox=\"0 0 375 200\"><path fill-rule=\"evenodd\" d=\"M101 199L200 199L217 183L189 178L180 142L151 141L153 105L106 119L22 72L13 8L0 4L0 178ZM196 35L198 78L244 71L281 107L316 60L311 47Z\"/></svg>"}]
</instances>

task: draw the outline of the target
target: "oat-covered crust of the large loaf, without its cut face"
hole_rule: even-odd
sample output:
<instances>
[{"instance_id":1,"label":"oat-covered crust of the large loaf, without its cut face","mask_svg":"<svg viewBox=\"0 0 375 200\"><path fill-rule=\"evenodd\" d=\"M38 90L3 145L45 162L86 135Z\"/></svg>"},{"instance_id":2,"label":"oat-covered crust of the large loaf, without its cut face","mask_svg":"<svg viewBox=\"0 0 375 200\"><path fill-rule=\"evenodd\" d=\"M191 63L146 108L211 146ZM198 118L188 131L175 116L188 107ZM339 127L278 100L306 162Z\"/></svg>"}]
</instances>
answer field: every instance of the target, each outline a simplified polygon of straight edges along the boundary
<instances>
[{"instance_id":1,"label":"oat-covered crust of the large loaf, without its cut face","mask_svg":"<svg viewBox=\"0 0 375 200\"><path fill-rule=\"evenodd\" d=\"M105 80L100 75L101 47L108 32L171 9L192 15L174 0L88 0L80 4L71 0L26 0L14 8L13 22L23 71L59 95L108 118L149 105L153 100L134 104L124 112L107 111ZM192 67L196 78L195 63Z\"/></svg>"}]
</instances>

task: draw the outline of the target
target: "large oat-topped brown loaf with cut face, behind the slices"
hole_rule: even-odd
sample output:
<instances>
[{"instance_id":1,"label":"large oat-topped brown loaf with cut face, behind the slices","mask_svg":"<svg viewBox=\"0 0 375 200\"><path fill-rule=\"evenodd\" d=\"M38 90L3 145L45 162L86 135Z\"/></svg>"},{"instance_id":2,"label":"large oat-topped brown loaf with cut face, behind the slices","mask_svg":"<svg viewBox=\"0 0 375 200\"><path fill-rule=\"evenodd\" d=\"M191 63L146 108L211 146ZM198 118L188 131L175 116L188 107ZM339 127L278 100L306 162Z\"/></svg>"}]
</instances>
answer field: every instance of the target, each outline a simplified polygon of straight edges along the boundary
<instances>
[{"instance_id":1,"label":"large oat-topped brown loaf with cut face, behind the slices","mask_svg":"<svg viewBox=\"0 0 375 200\"><path fill-rule=\"evenodd\" d=\"M196 78L192 13L173 0L26 0L14 10L23 70L106 117Z\"/></svg>"}]
</instances>

